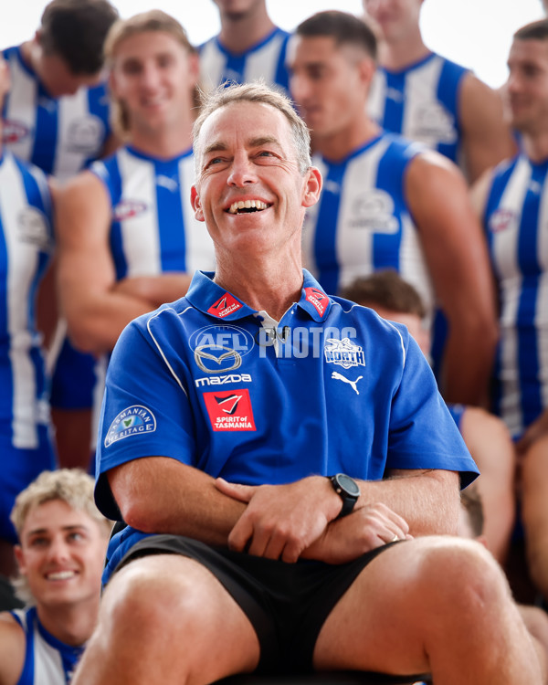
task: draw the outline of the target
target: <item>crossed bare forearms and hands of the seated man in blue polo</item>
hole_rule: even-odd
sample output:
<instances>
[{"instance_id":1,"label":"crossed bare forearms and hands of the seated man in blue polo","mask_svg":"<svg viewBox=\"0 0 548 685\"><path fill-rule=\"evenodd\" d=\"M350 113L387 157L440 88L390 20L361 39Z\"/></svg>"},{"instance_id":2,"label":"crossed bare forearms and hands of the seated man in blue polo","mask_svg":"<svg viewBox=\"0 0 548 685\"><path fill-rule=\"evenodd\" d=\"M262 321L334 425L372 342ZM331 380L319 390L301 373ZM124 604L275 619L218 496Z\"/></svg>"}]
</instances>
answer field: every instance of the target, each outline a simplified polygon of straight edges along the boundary
<instances>
[{"instance_id":1,"label":"crossed bare forearms and hands of the seated man in blue polo","mask_svg":"<svg viewBox=\"0 0 548 685\"><path fill-rule=\"evenodd\" d=\"M457 531L458 474L452 471L395 471L389 479L360 481L360 498L343 519L337 519L341 499L321 476L243 486L151 457L111 469L108 478L124 521L134 528L286 562L302 557L341 564L395 535Z\"/></svg>"}]
</instances>

